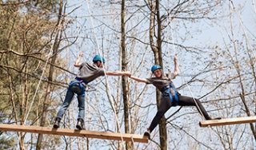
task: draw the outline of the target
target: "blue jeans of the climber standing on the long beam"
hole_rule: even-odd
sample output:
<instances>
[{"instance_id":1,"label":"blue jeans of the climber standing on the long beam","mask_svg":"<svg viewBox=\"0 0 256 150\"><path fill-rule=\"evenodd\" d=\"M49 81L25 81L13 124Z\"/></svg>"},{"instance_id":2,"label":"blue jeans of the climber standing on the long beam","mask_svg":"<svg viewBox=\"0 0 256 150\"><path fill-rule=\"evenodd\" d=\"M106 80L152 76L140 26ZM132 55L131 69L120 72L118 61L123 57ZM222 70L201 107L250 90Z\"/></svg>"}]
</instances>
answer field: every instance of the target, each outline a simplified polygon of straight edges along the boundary
<instances>
[{"instance_id":1,"label":"blue jeans of the climber standing on the long beam","mask_svg":"<svg viewBox=\"0 0 256 150\"><path fill-rule=\"evenodd\" d=\"M69 107L71 101L73 100L74 93L77 94L78 97L78 119L84 120L85 117L85 85L83 85L81 82L77 80L70 81L69 88L66 92L66 97L64 102L62 103L60 109L57 113L57 118L62 119L62 116L66 112L66 109Z\"/></svg>"}]
</instances>

